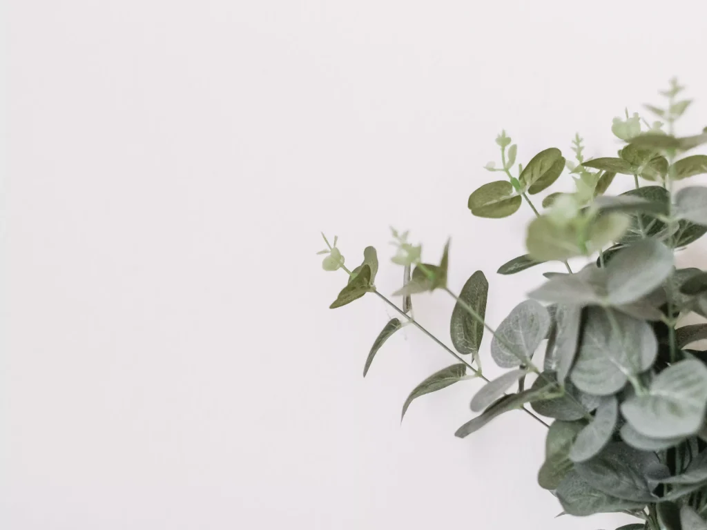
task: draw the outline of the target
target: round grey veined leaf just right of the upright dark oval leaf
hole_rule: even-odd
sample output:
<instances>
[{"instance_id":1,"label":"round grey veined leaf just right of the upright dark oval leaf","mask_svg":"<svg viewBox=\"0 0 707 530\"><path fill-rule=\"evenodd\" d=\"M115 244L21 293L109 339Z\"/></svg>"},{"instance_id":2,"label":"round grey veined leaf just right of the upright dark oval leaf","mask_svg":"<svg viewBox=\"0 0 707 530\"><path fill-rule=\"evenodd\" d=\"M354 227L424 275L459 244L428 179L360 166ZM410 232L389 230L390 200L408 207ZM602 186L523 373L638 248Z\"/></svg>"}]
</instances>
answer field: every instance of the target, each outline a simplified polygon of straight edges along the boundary
<instances>
[{"instance_id":1,"label":"round grey veined leaf just right of the upright dark oval leaf","mask_svg":"<svg viewBox=\"0 0 707 530\"><path fill-rule=\"evenodd\" d=\"M491 357L501 368L530 363L549 329L547 310L534 300L525 300L515 306L496 329L491 341Z\"/></svg>"}]
</instances>

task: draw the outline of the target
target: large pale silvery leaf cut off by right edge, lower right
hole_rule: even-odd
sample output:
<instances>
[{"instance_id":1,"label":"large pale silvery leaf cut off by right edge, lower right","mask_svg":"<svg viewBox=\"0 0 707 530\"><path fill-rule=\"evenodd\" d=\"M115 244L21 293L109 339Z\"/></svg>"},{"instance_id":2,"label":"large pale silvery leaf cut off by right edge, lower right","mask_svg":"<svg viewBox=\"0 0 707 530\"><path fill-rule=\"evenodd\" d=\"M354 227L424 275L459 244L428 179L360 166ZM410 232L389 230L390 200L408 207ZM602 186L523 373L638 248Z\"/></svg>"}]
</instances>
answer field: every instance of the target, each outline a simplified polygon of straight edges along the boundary
<instances>
[{"instance_id":1,"label":"large pale silvery leaf cut off by right edge, lower right","mask_svg":"<svg viewBox=\"0 0 707 530\"><path fill-rule=\"evenodd\" d=\"M699 360L683 360L660 372L648 394L632 396L621 413L642 435L674 438L694 435L707 408L707 367Z\"/></svg>"}]
</instances>

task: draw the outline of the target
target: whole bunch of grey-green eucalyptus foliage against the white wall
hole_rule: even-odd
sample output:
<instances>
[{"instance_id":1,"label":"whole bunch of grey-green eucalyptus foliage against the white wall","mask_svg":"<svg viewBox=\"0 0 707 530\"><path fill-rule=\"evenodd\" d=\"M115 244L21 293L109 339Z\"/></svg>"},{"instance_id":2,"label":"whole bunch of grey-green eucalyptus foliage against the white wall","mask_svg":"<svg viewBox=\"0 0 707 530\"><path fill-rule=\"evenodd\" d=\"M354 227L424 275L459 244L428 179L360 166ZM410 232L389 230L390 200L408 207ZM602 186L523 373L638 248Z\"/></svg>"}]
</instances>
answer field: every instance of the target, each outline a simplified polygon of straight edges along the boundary
<instances>
[{"instance_id":1,"label":"whole bunch of grey-green eucalyptus foliage against the white wall","mask_svg":"<svg viewBox=\"0 0 707 530\"><path fill-rule=\"evenodd\" d=\"M673 193L674 182L707 174L706 155L686 155L707 143L707 128L675 136L675 124L691 103L678 98L683 90L673 79L661 93L665 107L647 105L664 121L651 124L628 110L615 118L612 134L625 142L616 157L588 160L575 134L573 161L550 147L516 165L517 144L506 131L498 134L500 165L489 163L486 170L503 179L481 185L467 206L474 216L503 218L525 201L536 216L527 227L527 254L498 273L520 273L551 260L563 261L568 272L547 273L547 281L497 326L486 320L489 281L482 271L460 293L449 288L450 242L431 263L423 261L422 246L410 242L409 232L392 230L392 262L404 268L403 285L394 293L403 297L402 309L375 286L373 247L366 247L353 271L344 266L337 238L334 245L325 238L322 251L328 254L326 270L349 275L331 307L373 293L402 319L391 319L375 338L364 376L404 324L457 361L415 387L402 416L420 396L483 379L470 401L479 414L457 428L457 437L522 409L549 427L539 485L554 493L563 513L623 512L641 520L624 530L707 530L707 351L694 349L707 338L707 323L682 325L687 315L707 318L707 271L677 269L674 261L675 252L707 232L707 187ZM541 213L531 196L549 189L563 172L571 187L545 196ZM634 189L608 196L617 175L633 177ZM568 259L586 264L572 271ZM438 291L455 300L451 348L411 312L411 297ZM507 370L493 380L481 372L484 334L491 337L491 359ZM528 377L533 380L526 388Z\"/></svg>"}]
</instances>

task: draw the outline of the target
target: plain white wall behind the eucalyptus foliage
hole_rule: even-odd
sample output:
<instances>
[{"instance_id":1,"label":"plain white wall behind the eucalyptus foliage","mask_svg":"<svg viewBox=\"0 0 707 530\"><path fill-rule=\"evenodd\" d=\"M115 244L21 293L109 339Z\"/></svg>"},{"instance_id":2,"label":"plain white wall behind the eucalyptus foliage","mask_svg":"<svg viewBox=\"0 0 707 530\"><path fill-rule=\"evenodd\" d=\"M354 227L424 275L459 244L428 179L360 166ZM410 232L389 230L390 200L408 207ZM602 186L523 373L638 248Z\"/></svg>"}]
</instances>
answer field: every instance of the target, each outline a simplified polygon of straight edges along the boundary
<instances>
[{"instance_id":1,"label":"plain white wall behind the eucalyptus foliage","mask_svg":"<svg viewBox=\"0 0 707 530\"><path fill-rule=\"evenodd\" d=\"M389 225L429 261L450 236L451 288L483 270L498 324L542 270L495 273L524 252L525 205L467 210L496 134L523 162L571 155L575 131L612 155L612 117L659 102L673 74L698 98L682 131L699 131L707 4L17 0L7 15L2 528L629 521L553 519L544 432L521 413L453 437L477 381L400 425L409 390L453 360L406 328L364 380L392 314L373 296L327 309L345 277L315 252L320 230L351 266L375 245L392 293ZM445 341L451 309L416 300Z\"/></svg>"}]
</instances>

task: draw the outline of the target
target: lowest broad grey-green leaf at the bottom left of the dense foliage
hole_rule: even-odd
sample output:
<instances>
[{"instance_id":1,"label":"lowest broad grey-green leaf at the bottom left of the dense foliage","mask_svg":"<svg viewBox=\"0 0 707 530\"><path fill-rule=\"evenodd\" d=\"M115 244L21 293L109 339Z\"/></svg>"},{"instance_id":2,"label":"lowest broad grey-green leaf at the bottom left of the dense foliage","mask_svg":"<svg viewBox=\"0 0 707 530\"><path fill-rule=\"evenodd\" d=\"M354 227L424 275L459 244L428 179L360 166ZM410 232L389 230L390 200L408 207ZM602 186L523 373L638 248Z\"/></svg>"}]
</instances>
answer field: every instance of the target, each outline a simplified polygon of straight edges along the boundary
<instances>
[{"instance_id":1,"label":"lowest broad grey-green leaf at the bottom left of the dense foliage","mask_svg":"<svg viewBox=\"0 0 707 530\"><path fill-rule=\"evenodd\" d=\"M621 500L593 488L576 471L570 471L557 487L557 498L570 515L586 517L592 514L643 510L645 502Z\"/></svg>"}]
</instances>

